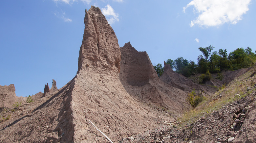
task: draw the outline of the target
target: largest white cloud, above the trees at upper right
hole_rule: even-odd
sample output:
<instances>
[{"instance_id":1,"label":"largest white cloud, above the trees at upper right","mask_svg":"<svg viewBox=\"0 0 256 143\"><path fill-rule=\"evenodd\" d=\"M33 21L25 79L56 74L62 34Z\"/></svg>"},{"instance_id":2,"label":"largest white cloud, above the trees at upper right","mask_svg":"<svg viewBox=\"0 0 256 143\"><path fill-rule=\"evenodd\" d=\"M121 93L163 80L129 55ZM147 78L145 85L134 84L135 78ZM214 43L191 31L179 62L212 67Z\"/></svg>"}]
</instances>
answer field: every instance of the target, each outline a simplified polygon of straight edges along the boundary
<instances>
[{"instance_id":1,"label":"largest white cloud, above the trees at upper right","mask_svg":"<svg viewBox=\"0 0 256 143\"><path fill-rule=\"evenodd\" d=\"M190 26L218 26L224 23L236 24L242 20L242 15L249 10L251 0L193 0L183 7L194 6L193 10L199 13Z\"/></svg>"}]
</instances>

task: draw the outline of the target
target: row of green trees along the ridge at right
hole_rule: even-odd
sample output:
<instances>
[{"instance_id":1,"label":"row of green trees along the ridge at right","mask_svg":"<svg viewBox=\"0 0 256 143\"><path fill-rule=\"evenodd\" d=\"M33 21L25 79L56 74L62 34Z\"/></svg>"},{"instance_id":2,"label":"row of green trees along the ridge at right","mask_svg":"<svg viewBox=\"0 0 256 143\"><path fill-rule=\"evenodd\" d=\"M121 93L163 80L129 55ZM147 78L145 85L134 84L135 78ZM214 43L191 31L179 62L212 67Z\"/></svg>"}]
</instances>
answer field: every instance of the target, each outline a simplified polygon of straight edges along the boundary
<instances>
[{"instance_id":1,"label":"row of green trees along the ridge at right","mask_svg":"<svg viewBox=\"0 0 256 143\"><path fill-rule=\"evenodd\" d=\"M198 73L218 73L222 70L238 70L242 68L248 68L254 65L256 61L256 51L252 52L252 49L247 47L237 48L233 52L227 54L226 49L219 49L213 51L214 47L199 47L198 48L202 55L197 58L197 64L192 60L184 59L183 57L178 57L175 60L167 59L166 63L169 64L174 71L180 73L186 77ZM157 71L158 76L160 76L164 67L162 64L158 63L153 65Z\"/></svg>"}]
</instances>

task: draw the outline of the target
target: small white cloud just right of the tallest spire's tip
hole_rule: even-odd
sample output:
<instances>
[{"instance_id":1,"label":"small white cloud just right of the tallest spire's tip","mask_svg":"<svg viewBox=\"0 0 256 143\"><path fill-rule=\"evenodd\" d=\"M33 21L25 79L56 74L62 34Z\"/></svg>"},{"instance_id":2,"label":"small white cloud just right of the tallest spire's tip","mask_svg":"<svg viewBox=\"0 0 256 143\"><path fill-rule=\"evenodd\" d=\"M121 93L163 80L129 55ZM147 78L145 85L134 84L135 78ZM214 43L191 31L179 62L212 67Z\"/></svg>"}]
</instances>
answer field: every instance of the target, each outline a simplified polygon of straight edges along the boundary
<instances>
[{"instance_id":1,"label":"small white cloud just right of the tallest spire's tip","mask_svg":"<svg viewBox=\"0 0 256 143\"><path fill-rule=\"evenodd\" d=\"M102 14L106 16L109 24L113 24L116 21L119 21L118 13L115 13L114 9L110 5L102 8Z\"/></svg>"}]
</instances>

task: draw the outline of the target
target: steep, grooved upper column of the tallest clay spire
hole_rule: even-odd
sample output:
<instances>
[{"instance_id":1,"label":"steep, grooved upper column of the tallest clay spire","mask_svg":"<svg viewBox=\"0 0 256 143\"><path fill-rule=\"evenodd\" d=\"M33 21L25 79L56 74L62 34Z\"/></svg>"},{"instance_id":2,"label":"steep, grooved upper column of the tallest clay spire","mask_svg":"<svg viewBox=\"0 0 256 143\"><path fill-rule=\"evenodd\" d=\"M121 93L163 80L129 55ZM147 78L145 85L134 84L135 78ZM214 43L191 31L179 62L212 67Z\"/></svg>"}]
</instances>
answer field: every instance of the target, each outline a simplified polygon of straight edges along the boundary
<instances>
[{"instance_id":1,"label":"steep, grooved upper column of the tallest clay spire","mask_svg":"<svg viewBox=\"0 0 256 143\"><path fill-rule=\"evenodd\" d=\"M121 53L117 36L100 9L92 6L86 10L84 24L77 73L89 69L120 72Z\"/></svg>"}]
</instances>

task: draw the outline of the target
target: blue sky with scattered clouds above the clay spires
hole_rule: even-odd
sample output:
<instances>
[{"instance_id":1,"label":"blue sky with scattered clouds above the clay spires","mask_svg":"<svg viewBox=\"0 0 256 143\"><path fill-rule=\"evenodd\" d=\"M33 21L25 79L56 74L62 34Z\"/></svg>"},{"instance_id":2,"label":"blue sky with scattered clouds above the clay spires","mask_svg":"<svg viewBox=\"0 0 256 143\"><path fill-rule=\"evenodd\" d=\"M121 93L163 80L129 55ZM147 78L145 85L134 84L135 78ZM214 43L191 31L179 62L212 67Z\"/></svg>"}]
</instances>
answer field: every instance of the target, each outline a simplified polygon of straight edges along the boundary
<instances>
[{"instance_id":1,"label":"blue sky with scattered clouds above the clay spires","mask_svg":"<svg viewBox=\"0 0 256 143\"><path fill-rule=\"evenodd\" d=\"M256 50L256 0L1 0L0 85L17 96L63 87L76 74L85 8L99 7L119 46L131 42L153 64L183 57L197 62L199 47ZM88 75L89 76L89 75Z\"/></svg>"}]
</instances>

